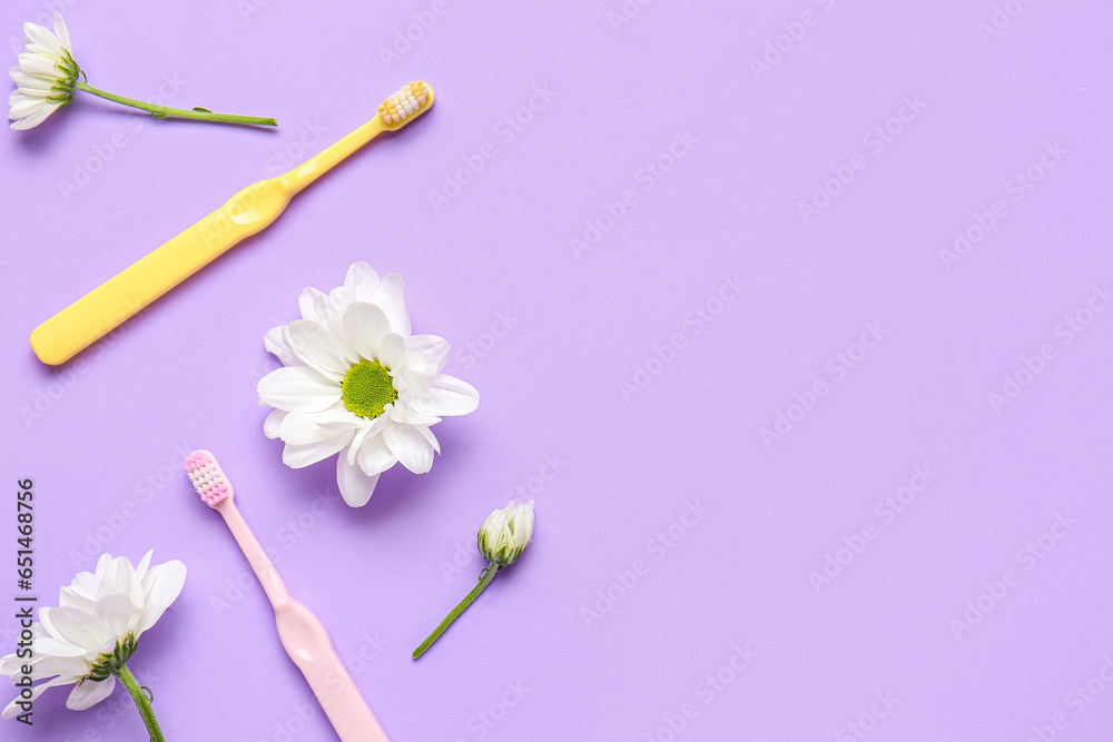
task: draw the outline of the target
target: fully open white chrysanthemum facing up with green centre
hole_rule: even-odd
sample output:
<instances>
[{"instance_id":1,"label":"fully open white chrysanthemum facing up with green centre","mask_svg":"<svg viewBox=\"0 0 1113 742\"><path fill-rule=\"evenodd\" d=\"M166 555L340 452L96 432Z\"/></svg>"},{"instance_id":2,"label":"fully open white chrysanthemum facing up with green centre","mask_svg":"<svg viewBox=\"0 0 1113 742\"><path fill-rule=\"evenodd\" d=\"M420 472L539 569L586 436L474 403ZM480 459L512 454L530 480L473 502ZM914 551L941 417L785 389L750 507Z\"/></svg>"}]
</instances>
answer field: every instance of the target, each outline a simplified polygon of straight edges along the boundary
<instances>
[{"instance_id":1,"label":"fully open white chrysanthemum facing up with green centre","mask_svg":"<svg viewBox=\"0 0 1113 742\"><path fill-rule=\"evenodd\" d=\"M306 288L298 305L302 319L264 338L284 367L258 386L259 404L274 407L264 432L286 443L283 462L301 468L338 453L336 482L353 507L397 463L429 472L441 452L430 427L474 410L480 395L441 373L444 338L411 335L402 277L356 263L343 286Z\"/></svg>"}]
</instances>

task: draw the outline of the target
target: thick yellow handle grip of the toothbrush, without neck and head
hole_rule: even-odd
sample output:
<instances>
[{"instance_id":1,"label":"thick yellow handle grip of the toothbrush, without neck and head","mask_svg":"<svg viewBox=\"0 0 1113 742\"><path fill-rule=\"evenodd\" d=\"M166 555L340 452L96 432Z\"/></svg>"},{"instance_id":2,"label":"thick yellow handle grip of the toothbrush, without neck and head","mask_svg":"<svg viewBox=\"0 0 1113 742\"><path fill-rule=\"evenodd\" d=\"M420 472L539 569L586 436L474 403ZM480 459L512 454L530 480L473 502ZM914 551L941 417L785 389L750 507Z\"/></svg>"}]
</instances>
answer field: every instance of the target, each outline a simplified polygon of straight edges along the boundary
<instances>
[{"instance_id":1,"label":"thick yellow handle grip of the toothbrush, without neck and head","mask_svg":"<svg viewBox=\"0 0 1113 742\"><path fill-rule=\"evenodd\" d=\"M243 189L219 209L92 289L31 333L31 348L57 366L127 321L219 255L278 218L292 196L284 178Z\"/></svg>"}]
</instances>

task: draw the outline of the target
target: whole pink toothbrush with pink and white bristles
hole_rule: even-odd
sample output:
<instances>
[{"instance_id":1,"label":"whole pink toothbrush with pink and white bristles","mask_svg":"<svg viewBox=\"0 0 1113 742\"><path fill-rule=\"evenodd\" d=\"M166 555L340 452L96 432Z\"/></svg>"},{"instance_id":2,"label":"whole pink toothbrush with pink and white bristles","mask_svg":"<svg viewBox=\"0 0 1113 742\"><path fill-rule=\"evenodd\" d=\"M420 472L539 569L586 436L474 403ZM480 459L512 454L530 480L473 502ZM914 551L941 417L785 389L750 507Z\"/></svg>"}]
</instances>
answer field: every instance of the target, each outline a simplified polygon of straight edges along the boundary
<instances>
[{"instance_id":1,"label":"whole pink toothbrush with pink and white bristles","mask_svg":"<svg viewBox=\"0 0 1113 742\"><path fill-rule=\"evenodd\" d=\"M186 458L186 472L205 504L220 512L244 556L255 570L275 609L278 639L325 710L343 742L390 742L375 714L333 647L317 616L289 594L275 565L267 558L234 502L232 483L216 458L195 451Z\"/></svg>"}]
</instances>

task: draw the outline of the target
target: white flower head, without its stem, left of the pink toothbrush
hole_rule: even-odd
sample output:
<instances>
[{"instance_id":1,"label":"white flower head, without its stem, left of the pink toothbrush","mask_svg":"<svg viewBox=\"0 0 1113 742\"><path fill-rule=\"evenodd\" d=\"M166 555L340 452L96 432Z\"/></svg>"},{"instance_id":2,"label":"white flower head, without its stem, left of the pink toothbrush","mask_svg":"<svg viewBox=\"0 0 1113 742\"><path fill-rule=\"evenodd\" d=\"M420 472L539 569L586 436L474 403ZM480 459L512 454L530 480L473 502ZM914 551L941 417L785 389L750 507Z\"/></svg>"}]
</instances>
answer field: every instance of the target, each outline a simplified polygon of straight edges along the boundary
<instances>
[{"instance_id":1,"label":"white flower head, without its stem, left of the pink toothbrush","mask_svg":"<svg viewBox=\"0 0 1113 742\"><path fill-rule=\"evenodd\" d=\"M96 573L81 572L61 588L58 607L39 609L31 627L31 657L9 654L0 659L0 674L23 676L30 664L35 685L3 710L3 718L19 713L21 702L33 702L48 687L77 684L66 705L75 711L104 701L116 687L116 676L136 651L139 636L155 625L178 597L186 567L177 561L150 565L151 552L138 567L126 557L105 554ZM128 675L130 677L130 675Z\"/></svg>"}]
</instances>

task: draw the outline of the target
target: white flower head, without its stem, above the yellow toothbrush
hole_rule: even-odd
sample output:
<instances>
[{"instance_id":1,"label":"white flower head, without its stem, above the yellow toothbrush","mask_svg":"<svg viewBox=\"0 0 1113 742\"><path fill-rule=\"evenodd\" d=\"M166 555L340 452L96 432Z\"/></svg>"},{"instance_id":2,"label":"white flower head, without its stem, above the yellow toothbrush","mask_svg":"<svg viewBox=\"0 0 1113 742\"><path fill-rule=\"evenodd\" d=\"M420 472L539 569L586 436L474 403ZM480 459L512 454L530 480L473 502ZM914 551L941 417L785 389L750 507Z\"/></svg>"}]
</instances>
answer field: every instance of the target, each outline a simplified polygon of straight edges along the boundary
<instances>
[{"instance_id":1,"label":"white flower head, without its stem, above the yellow toothbrush","mask_svg":"<svg viewBox=\"0 0 1113 742\"><path fill-rule=\"evenodd\" d=\"M8 98L8 118L12 129L30 129L73 100L81 68L73 61L72 44L66 21L55 13L51 32L38 23L23 23L23 51L19 66L11 68L18 86Z\"/></svg>"}]
</instances>

